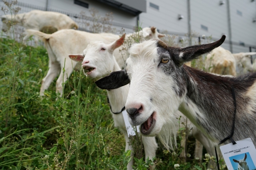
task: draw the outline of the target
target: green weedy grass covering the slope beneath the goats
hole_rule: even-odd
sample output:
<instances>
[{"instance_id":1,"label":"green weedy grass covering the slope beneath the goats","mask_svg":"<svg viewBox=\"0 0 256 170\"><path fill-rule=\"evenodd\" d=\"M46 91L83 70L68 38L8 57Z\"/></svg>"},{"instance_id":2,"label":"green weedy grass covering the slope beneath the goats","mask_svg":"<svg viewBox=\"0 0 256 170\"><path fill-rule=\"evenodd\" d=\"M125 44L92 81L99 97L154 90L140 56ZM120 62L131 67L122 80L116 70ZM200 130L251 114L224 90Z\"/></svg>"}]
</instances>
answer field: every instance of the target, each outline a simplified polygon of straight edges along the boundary
<instances>
[{"instance_id":1,"label":"green weedy grass covering the slope beneath the goats","mask_svg":"<svg viewBox=\"0 0 256 170\"><path fill-rule=\"evenodd\" d=\"M74 71L64 97L56 101L55 83L40 97L48 69L45 48L8 38L0 43L0 169L126 169L130 151L124 152L124 136L114 127L106 91ZM188 139L191 157L193 141ZM175 164L180 170L207 169L206 160L189 157L184 163L181 149L180 141L175 152L160 146L156 169L174 169ZM150 164L135 159L134 169L146 170Z\"/></svg>"}]
</instances>

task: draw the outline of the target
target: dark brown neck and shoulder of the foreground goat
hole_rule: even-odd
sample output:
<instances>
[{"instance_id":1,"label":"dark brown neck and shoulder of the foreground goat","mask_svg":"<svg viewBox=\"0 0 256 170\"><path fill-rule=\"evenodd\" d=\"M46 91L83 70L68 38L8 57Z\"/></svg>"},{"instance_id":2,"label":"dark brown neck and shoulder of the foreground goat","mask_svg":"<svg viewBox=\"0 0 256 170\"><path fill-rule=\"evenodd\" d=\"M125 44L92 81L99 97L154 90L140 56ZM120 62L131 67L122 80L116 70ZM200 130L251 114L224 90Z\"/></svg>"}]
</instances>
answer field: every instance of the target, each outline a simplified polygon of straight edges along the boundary
<instances>
[{"instance_id":1,"label":"dark brown neck and shoulder of the foreground goat","mask_svg":"<svg viewBox=\"0 0 256 170\"><path fill-rule=\"evenodd\" d=\"M234 101L231 93L231 84L236 91L236 126L233 136L234 140L251 137L256 143L256 133L244 133L242 129L247 125L248 129L256 122L256 108L247 109L247 105L255 105L250 100L245 103L245 95L251 89L251 94L256 97L255 79L253 74L247 79L232 78L204 73L197 69L184 66L183 72L185 93L184 101L179 110L186 115L202 132L210 137L213 142L218 143L231 134ZM245 82L247 81L247 82ZM247 98L247 100L249 100ZM247 106L247 107L245 107ZM253 116L248 113L253 114ZM255 128L255 127L254 127ZM253 128L253 129L254 129ZM227 141L226 143L229 143Z\"/></svg>"}]
</instances>

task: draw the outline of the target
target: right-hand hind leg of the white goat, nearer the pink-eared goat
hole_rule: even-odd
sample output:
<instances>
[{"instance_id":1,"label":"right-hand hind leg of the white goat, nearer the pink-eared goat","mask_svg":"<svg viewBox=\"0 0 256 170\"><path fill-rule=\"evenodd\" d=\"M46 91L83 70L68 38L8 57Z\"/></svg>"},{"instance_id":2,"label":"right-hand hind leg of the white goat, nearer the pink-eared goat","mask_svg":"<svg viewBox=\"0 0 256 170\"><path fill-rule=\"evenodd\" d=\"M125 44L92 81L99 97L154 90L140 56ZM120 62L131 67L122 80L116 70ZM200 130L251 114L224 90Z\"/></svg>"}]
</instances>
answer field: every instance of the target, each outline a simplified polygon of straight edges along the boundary
<instances>
[{"instance_id":1,"label":"right-hand hind leg of the white goat, nearer the pink-eared goat","mask_svg":"<svg viewBox=\"0 0 256 170\"><path fill-rule=\"evenodd\" d=\"M63 64L63 67L64 67L64 64ZM63 71L62 71L63 67L61 68L61 73L59 74L59 78L56 81L56 93L59 93L60 97L62 96L63 88L65 86L63 84L63 87L62 87L62 83L66 82L67 79L69 79L70 74L73 72L72 65L69 64L69 61L66 61L65 68L64 68L65 69L64 74L63 74Z\"/></svg>"}]
</instances>

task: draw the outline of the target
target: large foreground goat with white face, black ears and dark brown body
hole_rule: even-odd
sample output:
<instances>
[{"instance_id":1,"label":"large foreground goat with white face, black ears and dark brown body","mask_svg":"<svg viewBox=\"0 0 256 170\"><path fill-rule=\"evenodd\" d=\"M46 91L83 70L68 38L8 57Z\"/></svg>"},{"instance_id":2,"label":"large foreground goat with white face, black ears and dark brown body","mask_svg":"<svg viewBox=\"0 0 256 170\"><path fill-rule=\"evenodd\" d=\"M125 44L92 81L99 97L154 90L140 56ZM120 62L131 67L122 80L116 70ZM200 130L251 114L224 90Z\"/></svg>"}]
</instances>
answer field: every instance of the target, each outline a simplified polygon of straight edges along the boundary
<instances>
[{"instance_id":1,"label":"large foreground goat with white face, black ears and dark brown body","mask_svg":"<svg viewBox=\"0 0 256 170\"><path fill-rule=\"evenodd\" d=\"M102 89L130 83L126 101L128 119L141 125L145 136L158 135L166 148L175 140L174 112L180 110L216 146L232 130L236 93L236 117L232 139L250 137L256 144L256 73L221 76L190 68L183 63L220 46L220 40L186 48L168 47L161 40L147 40L130 48L126 68L96 81ZM227 144L225 141L224 144Z\"/></svg>"}]
</instances>

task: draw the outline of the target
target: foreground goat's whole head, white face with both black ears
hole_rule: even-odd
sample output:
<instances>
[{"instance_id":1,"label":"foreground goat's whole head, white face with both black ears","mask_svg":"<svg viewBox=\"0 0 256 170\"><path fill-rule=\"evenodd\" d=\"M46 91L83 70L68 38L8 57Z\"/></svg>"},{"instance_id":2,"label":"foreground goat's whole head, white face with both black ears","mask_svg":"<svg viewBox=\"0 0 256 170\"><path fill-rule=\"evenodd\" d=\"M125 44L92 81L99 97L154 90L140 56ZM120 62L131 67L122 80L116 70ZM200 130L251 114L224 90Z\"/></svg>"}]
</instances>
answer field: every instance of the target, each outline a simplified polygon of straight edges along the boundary
<instances>
[{"instance_id":1,"label":"foreground goat's whole head, white face with both black ears","mask_svg":"<svg viewBox=\"0 0 256 170\"><path fill-rule=\"evenodd\" d=\"M126 68L98 81L102 89L115 89L130 82L126 111L132 125L140 125L143 135L158 134L165 124L173 124L174 112L184 101L187 88L183 63L220 46L225 40L187 48L172 48L161 40L147 40L130 48Z\"/></svg>"}]
</instances>

